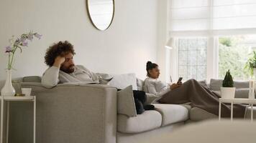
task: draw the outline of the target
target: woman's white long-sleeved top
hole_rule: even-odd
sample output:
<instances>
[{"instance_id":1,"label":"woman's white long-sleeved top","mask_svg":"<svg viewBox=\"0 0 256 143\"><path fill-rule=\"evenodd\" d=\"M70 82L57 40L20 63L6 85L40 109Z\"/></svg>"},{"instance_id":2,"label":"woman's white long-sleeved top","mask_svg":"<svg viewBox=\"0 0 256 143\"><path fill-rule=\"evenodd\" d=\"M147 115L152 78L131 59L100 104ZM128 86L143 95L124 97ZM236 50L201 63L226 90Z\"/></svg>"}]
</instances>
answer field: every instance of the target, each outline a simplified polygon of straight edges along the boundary
<instances>
[{"instance_id":1,"label":"woman's white long-sleeved top","mask_svg":"<svg viewBox=\"0 0 256 143\"><path fill-rule=\"evenodd\" d=\"M144 82L143 90L146 93L154 94L157 97L160 97L163 94L169 92L170 87L166 86L166 84L161 82L159 79L147 77Z\"/></svg>"}]
</instances>

